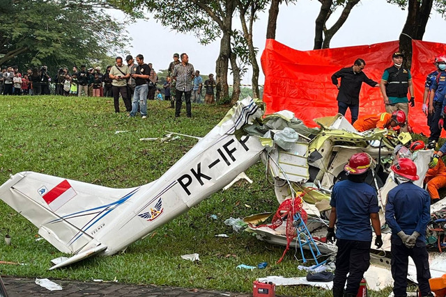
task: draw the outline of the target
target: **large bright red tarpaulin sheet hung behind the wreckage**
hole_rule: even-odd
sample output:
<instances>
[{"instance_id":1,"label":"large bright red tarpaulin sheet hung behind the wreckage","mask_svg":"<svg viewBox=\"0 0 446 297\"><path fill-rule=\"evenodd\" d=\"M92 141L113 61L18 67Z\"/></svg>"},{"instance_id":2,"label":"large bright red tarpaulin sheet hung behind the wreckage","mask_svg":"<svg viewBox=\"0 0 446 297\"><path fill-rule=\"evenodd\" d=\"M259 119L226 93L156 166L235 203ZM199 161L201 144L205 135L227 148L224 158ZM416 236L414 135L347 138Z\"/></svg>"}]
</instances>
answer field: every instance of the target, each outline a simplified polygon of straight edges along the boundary
<instances>
[{"instance_id":1,"label":"large bright red tarpaulin sheet hung behind the wreckage","mask_svg":"<svg viewBox=\"0 0 446 297\"><path fill-rule=\"evenodd\" d=\"M263 102L266 114L287 109L295 113L309 127L316 126L314 118L337 113L337 88L331 76L343 67L351 67L357 58L366 62L364 73L380 82L385 68L392 66L392 54L399 42L360 45L337 49L298 51L268 39L261 56L265 87ZM435 42L413 41L412 68L415 107L409 108L409 124L415 133L429 135L426 116L422 113L424 81L435 70L433 58L446 53L446 45ZM384 112L383 96L379 88L362 84L360 117ZM350 110L346 113L350 120Z\"/></svg>"}]
</instances>

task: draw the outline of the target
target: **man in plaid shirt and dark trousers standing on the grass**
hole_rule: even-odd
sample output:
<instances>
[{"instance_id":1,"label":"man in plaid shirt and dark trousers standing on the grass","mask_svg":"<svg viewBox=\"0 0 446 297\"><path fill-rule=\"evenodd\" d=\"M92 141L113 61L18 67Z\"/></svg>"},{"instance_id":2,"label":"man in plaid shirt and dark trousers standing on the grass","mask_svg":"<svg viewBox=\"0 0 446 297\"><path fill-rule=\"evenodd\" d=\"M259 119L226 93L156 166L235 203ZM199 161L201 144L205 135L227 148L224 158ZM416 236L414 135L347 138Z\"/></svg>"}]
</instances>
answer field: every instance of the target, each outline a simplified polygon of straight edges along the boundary
<instances>
[{"instance_id":1,"label":"man in plaid shirt and dark trousers standing on the grass","mask_svg":"<svg viewBox=\"0 0 446 297\"><path fill-rule=\"evenodd\" d=\"M176 80L175 93L175 117L180 116L181 111L181 97L185 97L187 118L192 117L190 96L192 93L192 79L194 78L194 66L189 63L189 56L186 53L180 55L181 63L174 67L174 79Z\"/></svg>"}]
</instances>

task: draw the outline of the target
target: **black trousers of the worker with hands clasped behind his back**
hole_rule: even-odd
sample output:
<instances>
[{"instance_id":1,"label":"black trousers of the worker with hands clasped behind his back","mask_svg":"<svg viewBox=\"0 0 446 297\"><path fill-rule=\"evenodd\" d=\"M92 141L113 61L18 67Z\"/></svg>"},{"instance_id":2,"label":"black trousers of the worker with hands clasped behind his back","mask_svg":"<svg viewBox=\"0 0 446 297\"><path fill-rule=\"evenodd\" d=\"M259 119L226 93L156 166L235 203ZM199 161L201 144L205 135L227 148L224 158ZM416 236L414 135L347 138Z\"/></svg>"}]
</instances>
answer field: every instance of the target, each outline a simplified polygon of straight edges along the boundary
<instances>
[{"instance_id":1,"label":"black trousers of the worker with hands clasped behind his back","mask_svg":"<svg viewBox=\"0 0 446 297\"><path fill-rule=\"evenodd\" d=\"M429 255L427 254L426 244L417 240L414 248L407 248L401 243L401 240L392 239L390 251L392 252L390 264L392 265L393 294L395 297L406 296L409 257L413 259L417 268L417 282L421 296L427 296L431 292L429 286L431 272L429 271Z\"/></svg>"}]
</instances>

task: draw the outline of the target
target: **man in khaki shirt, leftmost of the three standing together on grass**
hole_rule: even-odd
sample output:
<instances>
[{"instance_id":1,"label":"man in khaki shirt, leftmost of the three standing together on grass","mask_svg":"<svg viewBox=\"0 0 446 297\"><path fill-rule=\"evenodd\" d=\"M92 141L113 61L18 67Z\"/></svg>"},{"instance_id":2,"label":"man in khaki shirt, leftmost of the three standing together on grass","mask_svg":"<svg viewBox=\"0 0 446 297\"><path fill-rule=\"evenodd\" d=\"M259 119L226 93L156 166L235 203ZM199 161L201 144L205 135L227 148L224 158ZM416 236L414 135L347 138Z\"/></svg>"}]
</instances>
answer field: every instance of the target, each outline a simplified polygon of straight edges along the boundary
<instances>
[{"instance_id":1,"label":"man in khaki shirt, leftmost of the three standing together on grass","mask_svg":"<svg viewBox=\"0 0 446 297\"><path fill-rule=\"evenodd\" d=\"M113 90L113 101L114 101L114 112L119 112L119 94L123 97L125 104L125 109L130 113L132 111L132 103L127 94L127 79L130 77L130 70L127 65L123 65L123 58L116 57L116 65L110 69L109 77L113 79L112 90Z\"/></svg>"}]
</instances>

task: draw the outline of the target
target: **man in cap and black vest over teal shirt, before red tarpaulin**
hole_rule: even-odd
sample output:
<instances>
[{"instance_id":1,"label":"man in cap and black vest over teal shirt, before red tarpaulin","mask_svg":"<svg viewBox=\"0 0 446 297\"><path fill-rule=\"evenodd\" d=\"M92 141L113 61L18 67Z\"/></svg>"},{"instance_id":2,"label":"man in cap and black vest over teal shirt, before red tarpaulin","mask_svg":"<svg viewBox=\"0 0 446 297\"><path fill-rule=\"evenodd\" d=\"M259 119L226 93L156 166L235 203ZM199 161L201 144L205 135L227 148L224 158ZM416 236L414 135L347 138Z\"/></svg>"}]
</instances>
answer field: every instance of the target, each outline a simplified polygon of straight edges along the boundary
<instances>
[{"instance_id":1,"label":"man in cap and black vest over teal shirt, before red tarpaulin","mask_svg":"<svg viewBox=\"0 0 446 297\"><path fill-rule=\"evenodd\" d=\"M415 106L415 97L413 93L413 83L410 71L403 67L404 55L397 51L392 54L393 66L384 70L380 81L381 93L383 93L385 111L392 113L394 111L403 111L406 114L406 122L410 107ZM410 93L410 100L407 99L407 91ZM407 124L407 123L406 123ZM408 127L401 127L402 132L407 132Z\"/></svg>"}]
</instances>

